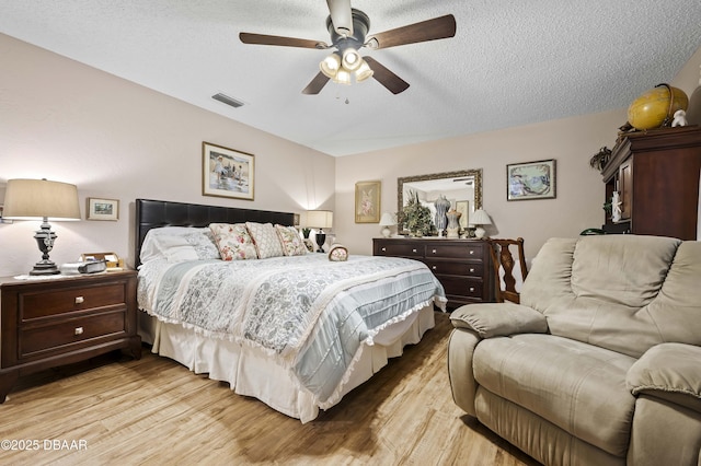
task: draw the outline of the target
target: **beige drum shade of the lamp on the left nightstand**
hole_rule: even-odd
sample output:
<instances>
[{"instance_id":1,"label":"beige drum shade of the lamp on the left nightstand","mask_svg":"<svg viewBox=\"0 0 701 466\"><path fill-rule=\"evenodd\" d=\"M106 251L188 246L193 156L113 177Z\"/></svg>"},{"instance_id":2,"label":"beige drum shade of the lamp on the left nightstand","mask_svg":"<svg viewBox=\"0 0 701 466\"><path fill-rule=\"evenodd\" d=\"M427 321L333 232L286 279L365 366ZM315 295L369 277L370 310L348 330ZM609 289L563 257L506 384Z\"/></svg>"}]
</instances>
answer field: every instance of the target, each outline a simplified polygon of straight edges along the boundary
<instances>
[{"instance_id":1,"label":"beige drum shade of the lamp on the left nightstand","mask_svg":"<svg viewBox=\"0 0 701 466\"><path fill-rule=\"evenodd\" d=\"M3 209L14 220L80 220L76 185L46 179L9 179Z\"/></svg>"}]
</instances>

